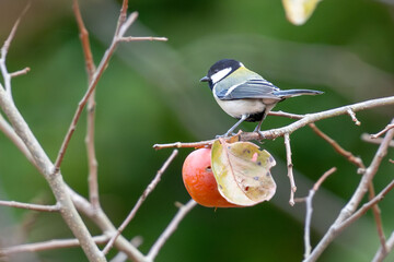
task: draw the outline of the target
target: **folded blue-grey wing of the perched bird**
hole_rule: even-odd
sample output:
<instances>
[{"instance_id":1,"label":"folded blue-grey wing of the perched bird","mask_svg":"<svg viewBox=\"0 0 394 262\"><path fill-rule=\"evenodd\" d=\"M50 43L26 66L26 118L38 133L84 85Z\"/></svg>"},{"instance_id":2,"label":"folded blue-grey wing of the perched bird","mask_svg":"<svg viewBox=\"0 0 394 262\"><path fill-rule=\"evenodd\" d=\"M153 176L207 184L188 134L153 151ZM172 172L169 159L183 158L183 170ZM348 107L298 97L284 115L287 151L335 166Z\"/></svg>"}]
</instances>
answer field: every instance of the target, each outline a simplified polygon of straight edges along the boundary
<instances>
[{"instance_id":1,"label":"folded blue-grey wing of the perched bird","mask_svg":"<svg viewBox=\"0 0 394 262\"><path fill-rule=\"evenodd\" d=\"M274 92L279 91L273 83L265 79L252 79L246 80L241 84L235 84L229 88L222 90L217 93L217 96L221 100L233 100L233 99L247 99L247 98L276 98Z\"/></svg>"}]
</instances>

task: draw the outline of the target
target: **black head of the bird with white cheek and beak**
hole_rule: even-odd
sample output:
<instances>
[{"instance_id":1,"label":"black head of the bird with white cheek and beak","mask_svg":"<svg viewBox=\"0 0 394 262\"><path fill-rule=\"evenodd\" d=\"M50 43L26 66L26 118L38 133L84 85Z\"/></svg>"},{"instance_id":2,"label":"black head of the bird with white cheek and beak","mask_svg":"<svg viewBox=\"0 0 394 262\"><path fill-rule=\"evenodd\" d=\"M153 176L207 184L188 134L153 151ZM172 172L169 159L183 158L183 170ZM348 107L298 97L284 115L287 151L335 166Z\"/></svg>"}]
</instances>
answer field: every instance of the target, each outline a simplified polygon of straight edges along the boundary
<instances>
[{"instance_id":1,"label":"black head of the bird with white cheek and beak","mask_svg":"<svg viewBox=\"0 0 394 262\"><path fill-rule=\"evenodd\" d=\"M200 82L208 82L209 86L212 88L216 83L241 67L243 67L242 62L234 59L219 60L208 70L208 74L200 79Z\"/></svg>"}]
</instances>

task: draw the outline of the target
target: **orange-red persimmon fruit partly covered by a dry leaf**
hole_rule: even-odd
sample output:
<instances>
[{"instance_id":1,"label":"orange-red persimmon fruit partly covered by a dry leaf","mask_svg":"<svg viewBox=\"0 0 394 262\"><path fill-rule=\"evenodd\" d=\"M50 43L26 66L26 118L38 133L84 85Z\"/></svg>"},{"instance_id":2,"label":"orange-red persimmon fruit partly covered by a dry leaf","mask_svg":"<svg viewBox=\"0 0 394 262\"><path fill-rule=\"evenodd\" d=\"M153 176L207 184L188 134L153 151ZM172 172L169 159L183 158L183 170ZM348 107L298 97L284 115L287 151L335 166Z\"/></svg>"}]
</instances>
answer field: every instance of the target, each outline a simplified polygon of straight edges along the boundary
<instances>
[{"instance_id":1,"label":"orange-red persimmon fruit partly covered by a dry leaf","mask_svg":"<svg viewBox=\"0 0 394 262\"><path fill-rule=\"evenodd\" d=\"M185 159L182 177L187 192L200 205L207 207L239 207L229 203L218 191L211 170L211 150L199 148Z\"/></svg>"}]
</instances>

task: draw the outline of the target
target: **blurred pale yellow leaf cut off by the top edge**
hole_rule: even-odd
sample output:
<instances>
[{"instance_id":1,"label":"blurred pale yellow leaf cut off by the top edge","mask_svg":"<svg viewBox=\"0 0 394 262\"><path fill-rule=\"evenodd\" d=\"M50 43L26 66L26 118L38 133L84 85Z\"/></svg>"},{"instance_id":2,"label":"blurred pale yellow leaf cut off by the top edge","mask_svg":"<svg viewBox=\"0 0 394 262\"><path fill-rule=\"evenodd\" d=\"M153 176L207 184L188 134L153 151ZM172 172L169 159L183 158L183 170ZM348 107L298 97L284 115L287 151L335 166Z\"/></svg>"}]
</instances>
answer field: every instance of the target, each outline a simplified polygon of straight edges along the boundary
<instances>
[{"instance_id":1,"label":"blurred pale yellow leaf cut off by the top edge","mask_svg":"<svg viewBox=\"0 0 394 262\"><path fill-rule=\"evenodd\" d=\"M287 19L294 25L302 25L311 17L321 0L282 0Z\"/></svg>"}]
</instances>

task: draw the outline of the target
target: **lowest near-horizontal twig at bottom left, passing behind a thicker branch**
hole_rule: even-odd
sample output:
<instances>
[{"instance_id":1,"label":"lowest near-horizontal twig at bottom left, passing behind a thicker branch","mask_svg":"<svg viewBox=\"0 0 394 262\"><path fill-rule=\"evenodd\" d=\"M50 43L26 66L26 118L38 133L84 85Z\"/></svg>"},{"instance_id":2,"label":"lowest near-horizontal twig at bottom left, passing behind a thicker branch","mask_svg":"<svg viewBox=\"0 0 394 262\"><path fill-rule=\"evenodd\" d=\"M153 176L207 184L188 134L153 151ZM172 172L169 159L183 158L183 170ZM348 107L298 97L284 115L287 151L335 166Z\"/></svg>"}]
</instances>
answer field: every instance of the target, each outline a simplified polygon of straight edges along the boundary
<instances>
[{"instance_id":1,"label":"lowest near-horizontal twig at bottom left, passing behind a thicker branch","mask_svg":"<svg viewBox=\"0 0 394 262\"><path fill-rule=\"evenodd\" d=\"M108 241L108 236L96 236L93 237L95 243L106 243ZM15 253L23 252L38 252L53 249L62 249L62 248L72 248L81 246L78 239L54 239L49 241L35 242L35 243L25 243L9 248L0 249L0 258L7 257Z\"/></svg>"}]
</instances>

